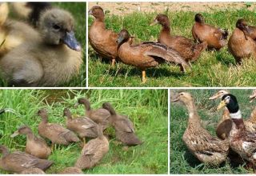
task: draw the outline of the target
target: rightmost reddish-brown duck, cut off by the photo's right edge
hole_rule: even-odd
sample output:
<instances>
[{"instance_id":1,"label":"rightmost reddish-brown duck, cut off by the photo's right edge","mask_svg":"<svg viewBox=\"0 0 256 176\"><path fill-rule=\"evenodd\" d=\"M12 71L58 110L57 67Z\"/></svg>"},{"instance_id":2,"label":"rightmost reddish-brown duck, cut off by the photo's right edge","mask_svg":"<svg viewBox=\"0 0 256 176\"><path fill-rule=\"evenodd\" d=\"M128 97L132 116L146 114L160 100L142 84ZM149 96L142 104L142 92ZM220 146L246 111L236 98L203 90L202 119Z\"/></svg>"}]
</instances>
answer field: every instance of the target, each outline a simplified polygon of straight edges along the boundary
<instances>
[{"instance_id":1,"label":"rightmost reddish-brown duck, cut off by the photo's right edge","mask_svg":"<svg viewBox=\"0 0 256 176\"><path fill-rule=\"evenodd\" d=\"M242 62L243 58L256 58L256 42L248 34L250 34L250 28L246 21L238 19L228 42L229 51L238 63Z\"/></svg>"}]
</instances>

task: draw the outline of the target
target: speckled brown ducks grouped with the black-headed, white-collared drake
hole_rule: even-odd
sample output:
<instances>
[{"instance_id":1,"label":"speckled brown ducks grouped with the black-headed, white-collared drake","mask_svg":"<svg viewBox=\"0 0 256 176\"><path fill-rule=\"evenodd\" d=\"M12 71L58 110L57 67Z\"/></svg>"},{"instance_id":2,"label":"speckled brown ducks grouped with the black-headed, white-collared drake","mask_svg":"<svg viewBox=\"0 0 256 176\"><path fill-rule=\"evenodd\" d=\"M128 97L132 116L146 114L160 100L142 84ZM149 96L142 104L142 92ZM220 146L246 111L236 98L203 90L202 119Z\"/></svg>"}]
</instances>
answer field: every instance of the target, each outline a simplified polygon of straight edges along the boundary
<instances>
[{"instance_id":1,"label":"speckled brown ducks grouped with the black-headed, white-collared drake","mask_svg":"<svg viewBox=\"0 0 256 176\"><path fill-rule=\"evenodd\" d=\"M226 161L229 154L241 158L253 166L256 163L256 107L250 118L243 120L238 106L238 100L227 90L219 90L210 100L222 99L217 110L223 110L222 119L218 122L216 134L212 136L201 124L200 116L190 93L181 92L172 102L182 102L188 112L188 125L182 140L188 150L201 162L219 165ZM250 100L256 98L256 90L250 95ZM229 155L230 156L230 155ZM230 157L232 161L232 158Z\"/></svg>"}]
</instances>

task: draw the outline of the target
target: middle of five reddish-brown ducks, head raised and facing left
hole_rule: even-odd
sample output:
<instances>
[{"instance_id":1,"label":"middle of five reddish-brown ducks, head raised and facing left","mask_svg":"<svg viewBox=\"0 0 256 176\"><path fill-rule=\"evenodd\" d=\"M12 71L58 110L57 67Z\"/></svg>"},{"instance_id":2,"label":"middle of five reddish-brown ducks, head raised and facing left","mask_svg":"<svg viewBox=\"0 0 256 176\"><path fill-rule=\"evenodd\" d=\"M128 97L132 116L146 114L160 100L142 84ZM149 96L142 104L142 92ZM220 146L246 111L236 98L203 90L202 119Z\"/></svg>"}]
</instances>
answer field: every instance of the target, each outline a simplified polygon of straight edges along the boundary
<instances>
[{"instance_id":1,"label":"middle of five reddish-brown ducks, head raised and facing left","mask_svg":"<svg viewBox=\"0 0 256 176\"><path fill-rule=\"evenodd\" d=\"M151 25L154 24L160 24L162 26L158 42L177 50L182 58L185 58L186 62L196 61L202 51L206 49L207 42L194 44L189 38L170 34L170 20L165 14L158 14L154 18L154 22L151 23Z\"/></svg>"}]
</instances>

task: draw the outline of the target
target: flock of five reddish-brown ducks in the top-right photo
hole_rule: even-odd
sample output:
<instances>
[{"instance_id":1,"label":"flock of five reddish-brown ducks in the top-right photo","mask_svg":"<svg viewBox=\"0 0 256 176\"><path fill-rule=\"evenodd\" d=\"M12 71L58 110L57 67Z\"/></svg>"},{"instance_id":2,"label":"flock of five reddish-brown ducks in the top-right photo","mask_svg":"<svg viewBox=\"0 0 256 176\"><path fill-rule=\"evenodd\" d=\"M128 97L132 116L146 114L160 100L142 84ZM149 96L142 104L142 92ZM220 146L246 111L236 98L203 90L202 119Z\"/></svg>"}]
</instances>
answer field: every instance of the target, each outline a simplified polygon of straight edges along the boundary
<instances>
[{"instance_id":1,"label":"flock of five reddish-brown ducks in the top-right photo","mask_svg":"<svg viewBox=\"0 0 256 176\"><path fill-rule=\"evenodd\" d=\"M89 14L94 22L89 30L90 46L101 58L108 58L114 66L116 60L142 70L142 82L146 82L146 69L162 62L174 62L182 72L190 69L190 62L196 61L203 50L220 50L226 46L228 31L206 24L202 14L194 17L190 38L171 34L170 20L165 14L158 14L150 25L159 24L162 30L158 42L133 44L133 38L125 29L118 34L107 30L105 14L100 6L93 6ZM238 63L243 58L256 58L256 27L248 26L245 19L238 19L236 28L228 41L228 49Z\"/></svg>"}]
</instances>

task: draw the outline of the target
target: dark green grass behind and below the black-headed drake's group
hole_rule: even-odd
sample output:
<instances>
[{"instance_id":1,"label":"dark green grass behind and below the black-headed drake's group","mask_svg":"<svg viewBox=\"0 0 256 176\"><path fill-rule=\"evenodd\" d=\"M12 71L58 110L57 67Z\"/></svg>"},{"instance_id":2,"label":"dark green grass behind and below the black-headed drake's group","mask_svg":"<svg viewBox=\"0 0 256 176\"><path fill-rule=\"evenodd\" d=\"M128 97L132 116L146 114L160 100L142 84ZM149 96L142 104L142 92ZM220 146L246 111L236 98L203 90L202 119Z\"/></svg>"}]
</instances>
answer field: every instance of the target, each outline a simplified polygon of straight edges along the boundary
<instances>
[{"instance_id":1,"label":"dark green grass behind and below the black-headed drake's group","mask_svg":"<svg viewBox=\"0 0 256 176\"><path fill-rule=\"evenodd\" d=\"M195 99L198 107L198 114L202 118L206 130L216 136L215 128L221 117L222 110L216 111L220 100L210 101L211 95L218 90L182 90L190 92ZM171 92L171 98L174 97ZM238 98L238 103L242 111L242 117L249 118L250 113L255 106L255 102L250 103L249 95L252 90L230 90ZM202 164L197 158L194 158L182 142L182 135L186 130L188 112L181 103L170 104L170 173L171 174L252 174L253 170L244 169L244 165L236 166L229 158L219 167L211 167ZM199 135L199 134L198 134Z\"/></svg>"}]
</instances>

